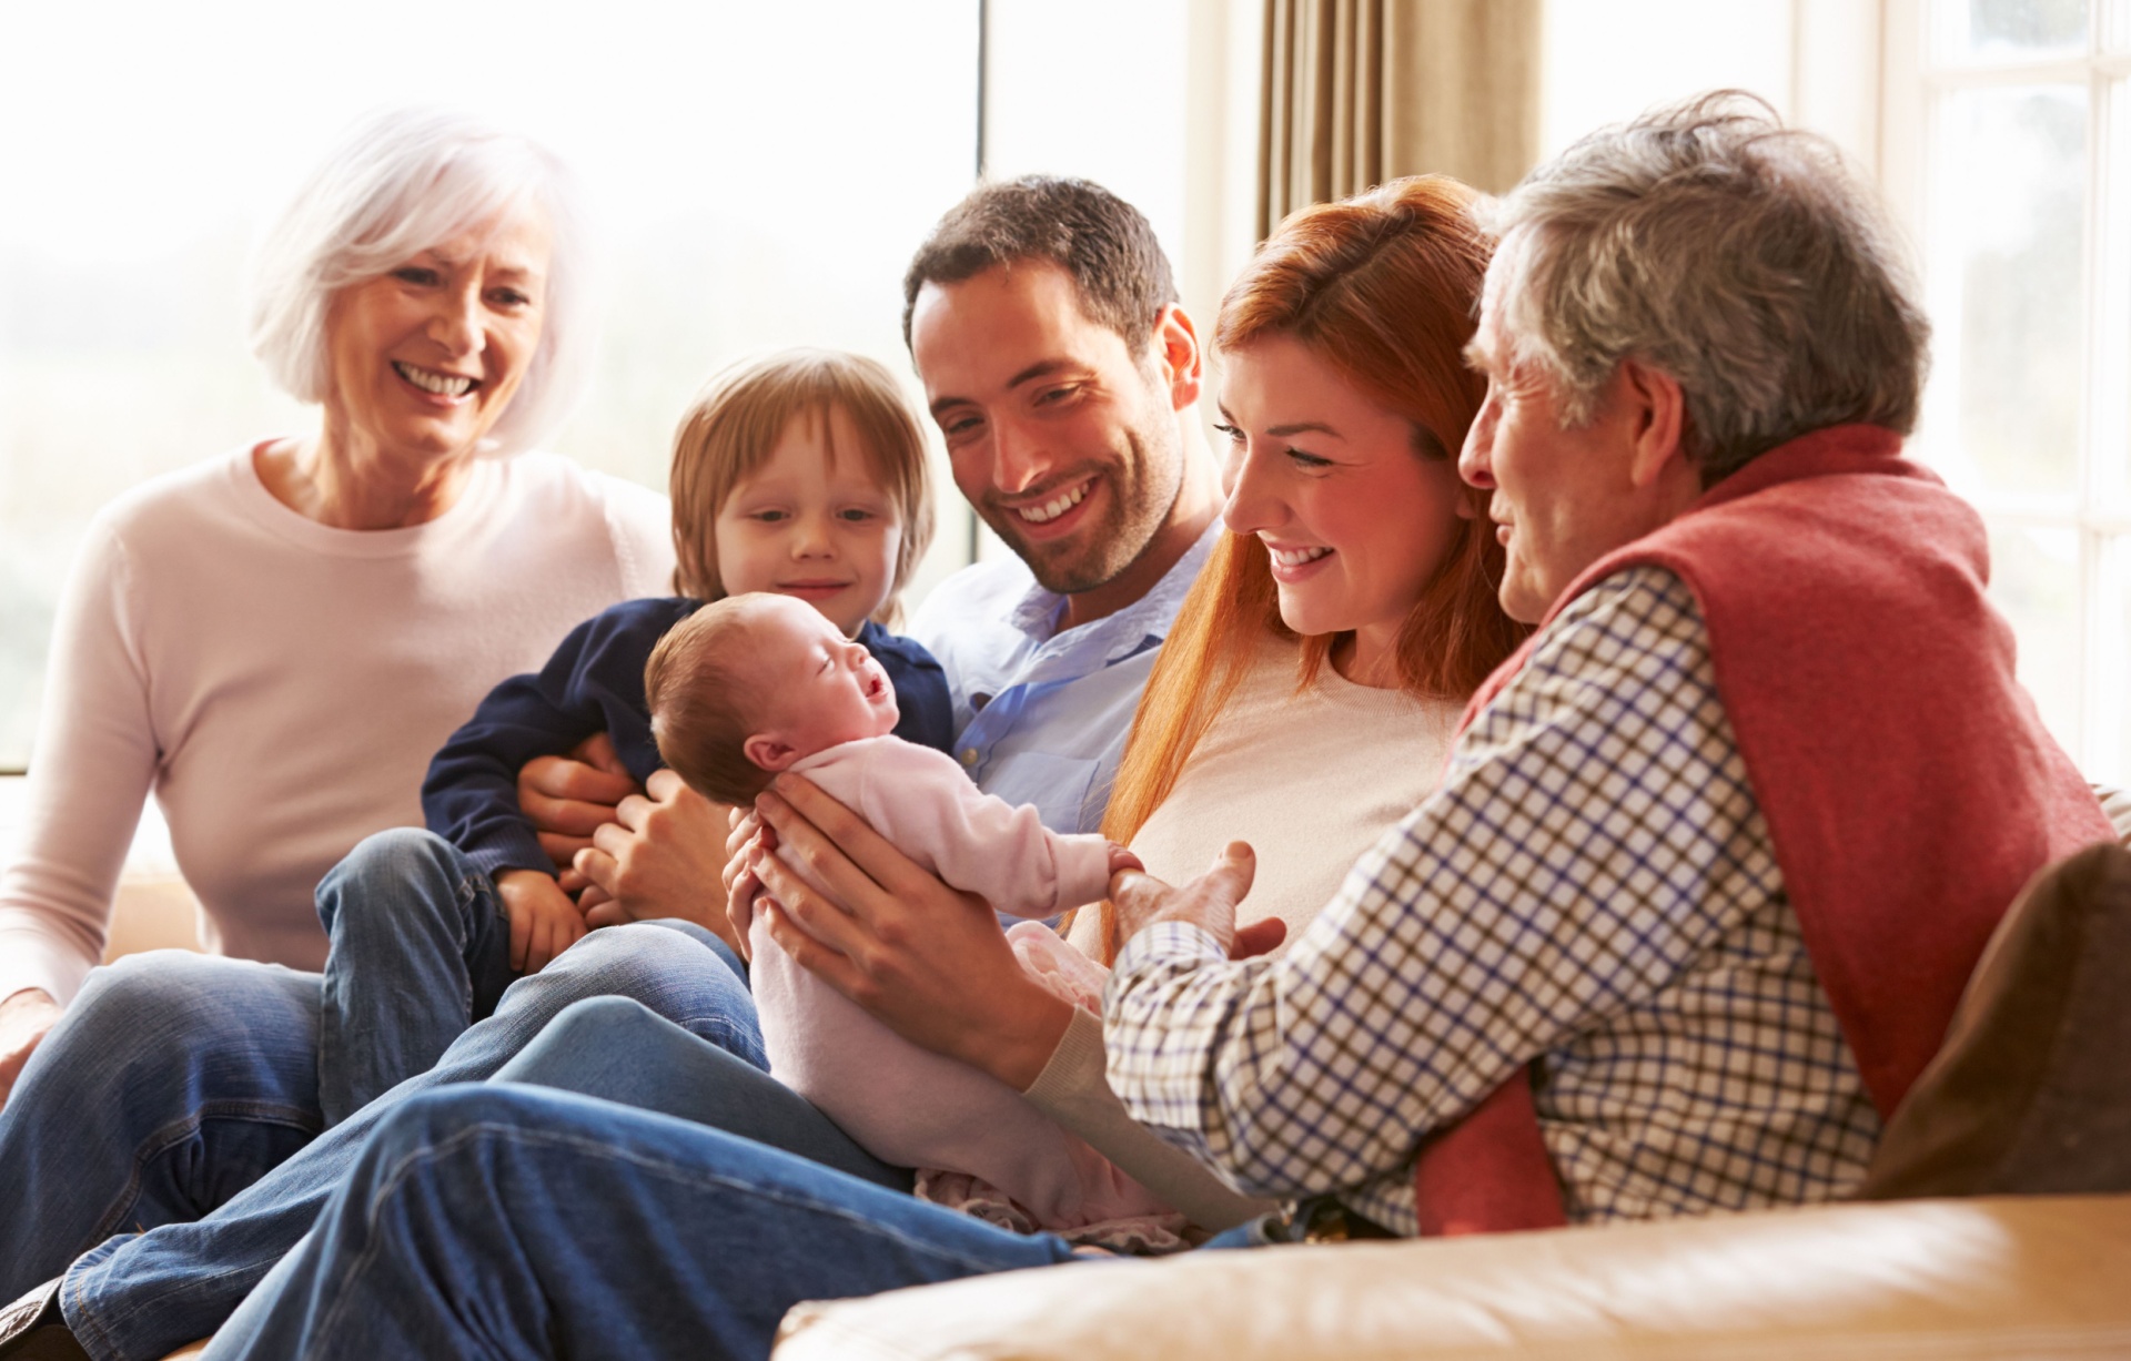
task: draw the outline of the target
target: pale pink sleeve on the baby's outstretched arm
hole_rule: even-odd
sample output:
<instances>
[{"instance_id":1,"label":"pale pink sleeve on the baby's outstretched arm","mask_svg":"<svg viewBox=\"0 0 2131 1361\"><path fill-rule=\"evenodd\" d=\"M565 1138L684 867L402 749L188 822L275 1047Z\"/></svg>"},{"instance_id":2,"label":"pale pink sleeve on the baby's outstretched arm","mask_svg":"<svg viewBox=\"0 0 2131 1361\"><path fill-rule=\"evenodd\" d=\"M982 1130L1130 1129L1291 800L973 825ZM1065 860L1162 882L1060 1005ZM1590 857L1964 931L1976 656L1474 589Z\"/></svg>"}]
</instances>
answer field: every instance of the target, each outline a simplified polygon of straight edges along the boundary
<instances>
[{"instance_id":1,"label":"pale pink sleeve on the baby's outstretched arm","mask_svg":"<svg viewBox=\"0 0 2131 1361\"><path fill-rule=\"evenodd\" d=\"M1104 837L1046 829L1034 807L976 788L944 752L897 737L863 745L855 807L904 854L993 912L1046 918L1108 892Z\"/></svg>"}]
</instances>

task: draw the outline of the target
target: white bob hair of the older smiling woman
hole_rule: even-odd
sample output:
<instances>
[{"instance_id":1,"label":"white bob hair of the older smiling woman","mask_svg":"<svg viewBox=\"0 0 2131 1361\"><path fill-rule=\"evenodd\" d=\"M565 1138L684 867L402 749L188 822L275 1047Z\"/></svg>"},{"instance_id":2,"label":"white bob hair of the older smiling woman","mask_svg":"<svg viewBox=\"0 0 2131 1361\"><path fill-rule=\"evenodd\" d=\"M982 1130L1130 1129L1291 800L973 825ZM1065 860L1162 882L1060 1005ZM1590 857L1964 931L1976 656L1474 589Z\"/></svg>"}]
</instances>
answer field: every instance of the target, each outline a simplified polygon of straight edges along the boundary
<instances>
[{"instance_id":1,"label":"white bob hair of the older smiling woman","mask_svg":"<svg viewBox=\"0 0 2131 1361\"><path fill-rule=\"evenodd\" d=\"M388 109L349 128L260 243L251 354L296 400L326 400L335 294L524 215L537 215L550 236L539 345L482 452L537 445L569 415L590 368L590 241L575 181L552 151L460 113Z\"/></svg>"}]
</instances>

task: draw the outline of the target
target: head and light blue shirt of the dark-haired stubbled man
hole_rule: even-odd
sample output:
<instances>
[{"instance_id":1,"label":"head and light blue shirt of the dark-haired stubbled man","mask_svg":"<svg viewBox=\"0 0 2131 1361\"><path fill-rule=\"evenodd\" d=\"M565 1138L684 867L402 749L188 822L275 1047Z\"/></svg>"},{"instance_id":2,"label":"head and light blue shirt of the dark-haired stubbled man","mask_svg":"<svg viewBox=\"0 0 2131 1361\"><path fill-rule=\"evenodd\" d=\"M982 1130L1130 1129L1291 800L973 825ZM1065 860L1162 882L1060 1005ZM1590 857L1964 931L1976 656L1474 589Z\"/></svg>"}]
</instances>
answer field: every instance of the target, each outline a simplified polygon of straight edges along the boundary
<instances>
[{"instance_id":1,"label":"head and light blue shirt of the dark-haired stubbled man","mask_svg":"<svg viewBox=\"0 0 2131 1361\"><path fill-rule=\"evenodd\" d=\"M904 337L955 486L1012 550L925 601L955 756L1091 831L1155 650L1213 545L1202 354L1138 209L1085 179L982 185L904 277Z\"/></svg>"}]
</instances>

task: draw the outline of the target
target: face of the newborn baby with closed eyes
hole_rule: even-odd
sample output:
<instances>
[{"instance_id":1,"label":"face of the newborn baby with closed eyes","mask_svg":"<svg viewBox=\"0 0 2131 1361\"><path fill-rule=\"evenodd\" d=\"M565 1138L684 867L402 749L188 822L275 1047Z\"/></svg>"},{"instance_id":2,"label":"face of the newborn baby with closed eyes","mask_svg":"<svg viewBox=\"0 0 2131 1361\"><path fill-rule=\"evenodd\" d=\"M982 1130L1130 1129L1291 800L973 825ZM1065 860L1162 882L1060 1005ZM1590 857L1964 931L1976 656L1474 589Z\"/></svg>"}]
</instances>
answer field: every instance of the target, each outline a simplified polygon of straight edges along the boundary
<instances>
[{"instance_id":1,"label":"face of the newborn baby with closed eyes","mask_svg":"<svg viewBox=\"0 0 2131 1361\"><path fill-rule=\"evenodd\" d=\"M837 743L895 731L895 686L863 643L791 596L759 596L750 613L763 720L748 737L748 760L782 771Z\"/></svg>"}]
</instances>

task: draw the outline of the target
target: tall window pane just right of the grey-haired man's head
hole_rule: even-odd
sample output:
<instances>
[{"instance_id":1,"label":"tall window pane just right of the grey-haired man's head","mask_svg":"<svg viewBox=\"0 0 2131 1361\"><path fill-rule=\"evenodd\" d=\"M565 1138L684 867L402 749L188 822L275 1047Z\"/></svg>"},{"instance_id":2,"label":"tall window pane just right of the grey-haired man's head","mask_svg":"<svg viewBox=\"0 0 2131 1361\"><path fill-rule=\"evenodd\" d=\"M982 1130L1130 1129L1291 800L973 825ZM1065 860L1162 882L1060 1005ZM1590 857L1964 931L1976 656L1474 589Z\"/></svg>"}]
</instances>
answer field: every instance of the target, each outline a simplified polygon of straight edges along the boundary
<instances>
[{"instance_id":1,"label":"tall window pane just right of the grey-haired man's head","mask_svg":"<svg viewBox=\"0 0 2131 1361\"><path fill-rule=\"evenodd\" d=\"M1929 224L1929 447L1956 486L2071 494L2080 456L2086 89L1946 96Z\"/></svg>"}]
</instances>

